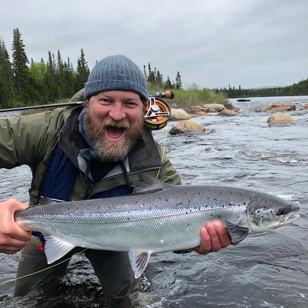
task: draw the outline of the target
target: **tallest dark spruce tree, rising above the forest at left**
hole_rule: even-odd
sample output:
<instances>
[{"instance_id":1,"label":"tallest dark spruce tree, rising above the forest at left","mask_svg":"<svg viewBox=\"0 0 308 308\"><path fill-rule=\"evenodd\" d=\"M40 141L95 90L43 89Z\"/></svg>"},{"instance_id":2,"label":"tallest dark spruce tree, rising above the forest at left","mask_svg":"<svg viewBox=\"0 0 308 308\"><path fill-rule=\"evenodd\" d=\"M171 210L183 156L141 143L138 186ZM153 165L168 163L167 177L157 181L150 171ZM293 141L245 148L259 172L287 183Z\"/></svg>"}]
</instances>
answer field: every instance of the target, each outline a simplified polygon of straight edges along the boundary
<instances>
[{"instance_id":1,"label":"tallest dark spruce tree, rising above the forest at left","mask_svg":"<svg viewBox=\"0 0 308 308\"><path fill-rule=\"evenodd\" d=\"M25 102L29 100L29 75L28 66L29 60L24 49L25 45L22 42L21 34L18 28L13 30L12 58L13 72L15 77L15 87L20 98Z\"/></svg>"}]
</instances>

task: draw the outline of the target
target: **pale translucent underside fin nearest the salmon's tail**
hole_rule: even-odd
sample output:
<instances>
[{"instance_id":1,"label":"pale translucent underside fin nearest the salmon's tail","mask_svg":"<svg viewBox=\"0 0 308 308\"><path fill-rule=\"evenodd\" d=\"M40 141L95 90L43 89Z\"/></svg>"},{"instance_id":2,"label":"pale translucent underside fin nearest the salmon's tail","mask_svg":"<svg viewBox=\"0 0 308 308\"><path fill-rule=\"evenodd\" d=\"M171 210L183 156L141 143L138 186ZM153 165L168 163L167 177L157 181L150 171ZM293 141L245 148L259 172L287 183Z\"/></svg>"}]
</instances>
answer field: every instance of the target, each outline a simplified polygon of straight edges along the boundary
<instances>
[{"instance_id":1,"label":"pale translucent underside fin nearest the salmon's tail","mask_svg":"<svg viewBox=\"0 0 308 308\"><path fill-rule=\"evenodd\" d=\"M75 247L73 244L64 242L50 235L43 235L46 241L45 254L47 257L47 264L57 261Z\"/></svg>"}]
</instances>

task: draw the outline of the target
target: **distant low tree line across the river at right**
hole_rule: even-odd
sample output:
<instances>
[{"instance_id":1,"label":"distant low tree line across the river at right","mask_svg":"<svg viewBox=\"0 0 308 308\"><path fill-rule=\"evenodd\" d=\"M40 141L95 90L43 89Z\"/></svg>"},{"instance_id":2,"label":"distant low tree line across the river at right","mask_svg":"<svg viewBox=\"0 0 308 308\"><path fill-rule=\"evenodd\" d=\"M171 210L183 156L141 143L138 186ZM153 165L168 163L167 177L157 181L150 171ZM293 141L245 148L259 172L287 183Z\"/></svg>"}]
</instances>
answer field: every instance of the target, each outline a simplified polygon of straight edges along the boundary
<instances>
[{"instance_id":1,"label":"distant low tree line across the river at right","mask_svg":"<svg viewBox=\"0 0 308 308\"><path fill-rule=\"evenodd\" d=\"M224 93L228 98L257 97L257 96L294 96L308 95L308 79L302 79L298 83L293 83L286 87L273 87L266 89L242 89L241 85L236 89L234 86L226 88L212 89L216 94Z\"/></svg>"}]
</instances>

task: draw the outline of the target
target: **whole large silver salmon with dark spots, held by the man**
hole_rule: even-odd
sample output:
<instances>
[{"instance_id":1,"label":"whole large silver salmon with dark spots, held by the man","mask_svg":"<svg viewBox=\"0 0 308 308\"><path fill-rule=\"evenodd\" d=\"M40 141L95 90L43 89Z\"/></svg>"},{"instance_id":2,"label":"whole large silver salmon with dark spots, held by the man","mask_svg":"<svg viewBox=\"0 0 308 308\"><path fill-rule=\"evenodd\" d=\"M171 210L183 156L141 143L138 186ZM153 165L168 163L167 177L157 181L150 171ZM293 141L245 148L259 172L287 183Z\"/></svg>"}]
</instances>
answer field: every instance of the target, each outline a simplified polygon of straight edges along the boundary
<instances>
[{"instance_id":1,"label":"whole large silver salmon with dark spots, held by the man","mask_svg":"<svg viewBox=\"0 0 308 308\"><path fill-rule=\"evenodd\" d=\"M43 233L47 263L76 246L128 251L135 277L151 253L197 247L207 221L224 222L233 243L298 219L299 206L271 194L220 185L169 185L139 175L134 193L50 202L16 211L23 229ZM43 200L44 201L44 200Z\"/></svg>"}]
</instances>

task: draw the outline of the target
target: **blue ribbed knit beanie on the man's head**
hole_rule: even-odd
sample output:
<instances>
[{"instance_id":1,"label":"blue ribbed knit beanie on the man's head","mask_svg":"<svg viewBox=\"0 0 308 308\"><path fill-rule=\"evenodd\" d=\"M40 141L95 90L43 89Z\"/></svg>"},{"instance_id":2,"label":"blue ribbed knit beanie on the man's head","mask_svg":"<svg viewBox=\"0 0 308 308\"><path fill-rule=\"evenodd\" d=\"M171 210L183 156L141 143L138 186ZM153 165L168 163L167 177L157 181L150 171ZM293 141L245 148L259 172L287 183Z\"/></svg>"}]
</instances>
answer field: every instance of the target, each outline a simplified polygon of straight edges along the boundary
<instances>
[{"instance_id":1,"label":"blue ribbed knit beanie on the man's head","mask_svg":"<svg viewBox=\"0 0 308 308\"><path fill-rule=\"evenodd\" d=\"M148 100L147 82L137 65L122 55L108 56L93 67L85 85L86 99L101 91L134 91Z\"/></svg>"}]
</instances>

